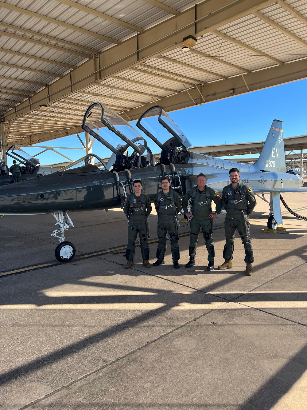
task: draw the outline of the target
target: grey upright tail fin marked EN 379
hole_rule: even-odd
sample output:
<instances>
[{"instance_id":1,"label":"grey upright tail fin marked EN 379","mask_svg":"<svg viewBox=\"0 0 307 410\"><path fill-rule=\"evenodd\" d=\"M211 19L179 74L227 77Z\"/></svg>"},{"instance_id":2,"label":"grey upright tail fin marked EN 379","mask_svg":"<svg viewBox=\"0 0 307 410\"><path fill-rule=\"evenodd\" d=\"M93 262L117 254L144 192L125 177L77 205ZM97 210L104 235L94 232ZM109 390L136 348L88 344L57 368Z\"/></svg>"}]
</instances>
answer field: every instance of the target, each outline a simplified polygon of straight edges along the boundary
<instances>
[{"instance_id":1,"label":"grey upright tail fin marked EN 379","mask_svg":"<svg viewBox=\"0 0 307 410\"><path fill-rule=\"evenodd\" d=\"M269 134L266 137L260 157L255 163L255 166L259 168L259 171L286 172L282 121L273 120Z\"/></svg>"}]
</instances>

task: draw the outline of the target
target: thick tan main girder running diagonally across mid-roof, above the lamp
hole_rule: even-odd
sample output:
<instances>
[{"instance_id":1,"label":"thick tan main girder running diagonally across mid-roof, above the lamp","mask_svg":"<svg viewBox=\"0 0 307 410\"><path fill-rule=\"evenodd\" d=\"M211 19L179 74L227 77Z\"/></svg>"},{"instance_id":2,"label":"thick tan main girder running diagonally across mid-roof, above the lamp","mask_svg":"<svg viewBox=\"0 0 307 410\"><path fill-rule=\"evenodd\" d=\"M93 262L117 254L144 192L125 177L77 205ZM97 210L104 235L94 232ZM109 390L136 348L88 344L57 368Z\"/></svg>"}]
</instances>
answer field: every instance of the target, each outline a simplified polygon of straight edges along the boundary
<instances>
[{"instance_id":1,"label":"thick tan main girder running diagonally across mid-roof, above the lamp","mask_svg":"<svg viewBox=\"0 0 307 410\"><path fill-rule=\"evenodd\" d=\"M247 16L251 14L253 9L260 9L274 3L273 0L240 0L235 2L233 0L208 0L202 2L197 5L197 36L212 32L212 30L231 21ZM7 6L6 3L5 6ZM217 9L217 7L219 8ZM41 90L30 99L29 103L21 103L16 113L6 114L4 120L8 121L16 116L25 115L41 104L52 103L63 96L89 87L97 80L107 79L130 67L140 65L167 50L173 50L178 43L182 42L183 37L191 34L191 30L194 28L195 8L193 6L178 16L169 18L167 21L138 34L138 39L134 36L116 47L108 48L94 59L88 60L63 78L50 84L48 90ZM108 98L110 97L108 96ZM138 104L142 105L143 103L138 102Z\"/></svg>"}]
</instances>

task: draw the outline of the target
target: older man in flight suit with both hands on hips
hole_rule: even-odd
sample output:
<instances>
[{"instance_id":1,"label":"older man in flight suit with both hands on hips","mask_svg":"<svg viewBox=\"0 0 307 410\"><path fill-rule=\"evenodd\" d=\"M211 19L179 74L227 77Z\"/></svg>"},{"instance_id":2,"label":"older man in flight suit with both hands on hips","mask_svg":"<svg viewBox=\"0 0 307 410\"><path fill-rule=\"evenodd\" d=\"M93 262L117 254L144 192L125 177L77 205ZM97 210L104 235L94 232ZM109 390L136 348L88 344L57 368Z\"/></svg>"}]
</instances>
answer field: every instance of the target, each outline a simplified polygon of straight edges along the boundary
<instances>
[{"instance_id":1,"label":"older man in flight suit with both hands on hips","mask_svg":"<svg viewBox=\"0 0 307 410\"><path fill-rule=\"evenodd\" d=\"M196 248L198 243L198 235L200 230L203 231L203 238L208 251L208 266L207 270L214 269L214 242L213 242L213 219L221 213L222 200L214 189L206 186L206 177L203 173L197 175L197 187L191 188L183 197L182 207L186 216L191 220L190 227L190 246L189 256L190 261L185 265L186 268L191 268L195 265ZM190 210L188 204L190 200ZM215 212L212 212L211 203L215 203Z\"/></svg>"}]
</instances>

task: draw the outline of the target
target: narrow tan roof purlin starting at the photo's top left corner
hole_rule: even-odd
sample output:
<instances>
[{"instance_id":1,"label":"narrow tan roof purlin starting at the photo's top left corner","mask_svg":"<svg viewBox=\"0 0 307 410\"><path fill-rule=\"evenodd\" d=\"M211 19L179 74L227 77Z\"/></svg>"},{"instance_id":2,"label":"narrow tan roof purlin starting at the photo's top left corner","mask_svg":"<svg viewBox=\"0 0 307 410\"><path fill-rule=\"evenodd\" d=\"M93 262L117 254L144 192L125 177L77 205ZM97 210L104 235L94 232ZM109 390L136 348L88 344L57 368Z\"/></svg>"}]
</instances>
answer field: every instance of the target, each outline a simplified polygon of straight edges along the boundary
<instances>
[{"instance_id":1,"label":"narrow tan roof purlin starting at the photo's top left corner","mask_svg":"<svg viewBox=\"0 0 307 410\"><path fill-rule=\"evenodd\" d=\"M79 31L83 34L87 34L88 36L96 37L99 40L108 41L109 43L114 43L114 44L120 44L120 41L111 39L110 37L102 36L102 34L97 34L92 31L85 30L84 28L81 28L81 27L78 27L72 24L64 23L63 21L56 20L55 18L47 17L47 16L44 16L43 14L38 14L38 13L35 13L34 11L30 11L27 9L22 9L20 7L16 7L11 4L4 3L2 1L0 1L0 7L9 9L12 11L17 11L17 13L20 13L22 15L38 18L39 20L47 21L48 23L52 23L55 25L63 26L65 28L69 28L72 31Z\"/></svg>"}]
</instances>

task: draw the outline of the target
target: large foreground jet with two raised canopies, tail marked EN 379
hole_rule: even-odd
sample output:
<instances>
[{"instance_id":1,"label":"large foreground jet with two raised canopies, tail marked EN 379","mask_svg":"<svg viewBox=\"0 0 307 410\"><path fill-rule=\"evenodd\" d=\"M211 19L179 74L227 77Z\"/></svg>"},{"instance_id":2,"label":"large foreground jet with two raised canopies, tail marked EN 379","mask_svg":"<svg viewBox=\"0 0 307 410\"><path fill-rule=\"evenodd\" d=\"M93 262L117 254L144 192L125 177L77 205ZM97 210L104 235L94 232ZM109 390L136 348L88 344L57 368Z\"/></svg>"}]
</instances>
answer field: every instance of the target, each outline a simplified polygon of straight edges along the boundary
<instances>
[{"instance_id":1,"label":"large foreground jet with two raised canopies, tail marked EN 379","mask_svg":"<svg viewBox=\"0 0 307 410\"><path fill-rule=\"evenodd\" d=\"M300 189L300 176L286 173L281 121L273 120L253 165L188 151L190 142L160 106L149 108L136 125L161 149L157 164L146 139L135 128L111 109L93 103L81 127L111 151L108 162L89 154L51 175L0 187L0 214L52 214L58 229L51 235L60 241L55 256L67 262L75 254L74 245L64 236L73 226L68 212L123 206L135 179L142 180L144 193L151 199L165 174L172 181L172 189L182 195L195 185L196 175L201 172L207 176L207 184L221 192L230 183L229 170L236 167L241 181L256 194L264 200L264 194L270 194L268 226L274 229L282 223L280 193L307 191Z\"/></svg>"}]
</instances>

